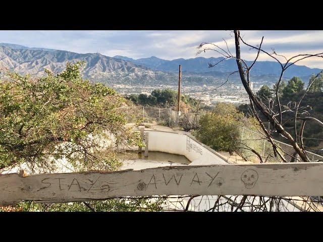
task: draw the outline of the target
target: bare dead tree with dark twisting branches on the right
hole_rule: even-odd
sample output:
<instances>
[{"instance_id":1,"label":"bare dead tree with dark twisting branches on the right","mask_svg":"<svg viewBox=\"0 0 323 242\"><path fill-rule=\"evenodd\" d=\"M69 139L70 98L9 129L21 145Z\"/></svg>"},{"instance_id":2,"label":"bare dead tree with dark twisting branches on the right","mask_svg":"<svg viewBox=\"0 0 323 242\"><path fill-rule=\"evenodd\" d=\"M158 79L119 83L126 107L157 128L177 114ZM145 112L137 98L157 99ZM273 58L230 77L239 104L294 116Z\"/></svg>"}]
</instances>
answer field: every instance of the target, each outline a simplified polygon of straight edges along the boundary
<instances>
[{"instance_id":1,"label":"bare dead tree with dark twisting branches on the right","mask_svg":"<svg viewBox=\"0 0 323 242\"><path fill-rule=\"evenodd\" d=\"M266 129L265 125L263 124L263 121L260 119L257 110L260 111L262 115L267 119L268 122L274 127L274 132L277 132L279 135L284 137L290 145L293 146L295 153L299 156L300 160L303 162L310 162L312 160L309 159L309 157L306 154L306 150L303 145L303 131L305 128L305 123L308 120L311 120L313 122L316 122L318 125L323 127L323 123L314 118L309 116L309 112L306 111L306 107L301 106L301 102L308 92L310 86L312 83L314 83L315 79L322 73L318 73L316 77L314 78L314 81L308 85L306 91L304 92L304 95L301 97L301 99L297 102L295 107L290 108L286 106L283 106L280 101L279 97L279 87L280 84L283 80L283 76L285 71L291 67L292 65L298 63L299 61L302 61L303 59L309 58L309 57L323 57L323 53L316 53L316 54L298 54L295 56L292 56L290 58L287 58L281 54L276 53L276 51L273 49L272 53L269 53L265 51L264 49L261 48L261 45L263 43L263 37L261 38L260 44L258 46L253 46L251 44L248 44L246 41L243 40L243 38L240 35L239 30L234 30L234 38L235 38L235 55L233 55L230 52L229 46L227 42L224 40L226 44L226 48L222 48L216 44L212 43L201 43L197 48L197 54L201 52L205 52L206 50L212 50L220 53L224 58L216 63L216 64L210 64L209 67L214 67L218 65L219 63L225 61L226 59L234 58L236 59L237 67L238 67L238 73L242 82L242 85L244 86L244 89L246 90L249 99L250 99L250 106L252 108L252 112L255 116L255 118L258 120L260 127L262 128L263 132L266 135L266 139L268 142L270 142L273 146L274 154L275 156L279 156L284 162L286 162L286 159L284 158L284 151L280 150L280 148L275 144L273 140L273 132L270 130ZM247 63L242 59L241 57L241 51L240 51L240 41L250 47L251 49L256 50L256 57L254 61L252 62L251 65L247 65ZM271 100L268 102L268 104L263 103L261 98L259 98L250 88L250 72L252 68L254 67L254 64L257 62L257 59L260 54L265 54L267 56L270 56L271 58L274 59L277 63L280 64L281 66L281 72L279 73L279 79L277 81L276 85L276 98L275 100ZM280 61L279 57L284 58L284 62ZM277 102L277 103L276 103ZM302 110L300 112L300 110ZM285 112L293 112L293 122L294 122L294 129L293 129L293 134L290 131L287 131L286 127L284 127L283 123L283 114ZM302 125L300 130L297 129L297 122L298 120L302 121ZM286 122L285 122L286 123ZM294 136L294 137L293 137ZM283 152L283 153L282 153Z\"/></svg>"}]
</instances>

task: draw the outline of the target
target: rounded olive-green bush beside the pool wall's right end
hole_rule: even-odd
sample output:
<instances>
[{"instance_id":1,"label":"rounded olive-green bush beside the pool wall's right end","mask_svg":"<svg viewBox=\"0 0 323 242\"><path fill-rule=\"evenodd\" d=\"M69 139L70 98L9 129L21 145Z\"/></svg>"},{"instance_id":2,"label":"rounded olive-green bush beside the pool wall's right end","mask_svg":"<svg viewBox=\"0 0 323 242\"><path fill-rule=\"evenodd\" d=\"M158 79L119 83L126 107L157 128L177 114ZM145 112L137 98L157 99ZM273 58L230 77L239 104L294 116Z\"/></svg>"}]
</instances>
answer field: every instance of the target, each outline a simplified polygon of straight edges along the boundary
<instances>
[{"instance_id":1,"label":"rounded olive-green bush beside the pool wall's right end","mask_svg":"<svg viewBox=\"0 0 323 242\"><path fill-rule=\"evenodd\" d=\"M237 125L242 125L243 113L233 104L218 103L212 112L201 116L200 127L194 135L214 150L225 150L231 154L238 148L240 137Z\"/></svg>"}]
</instances>

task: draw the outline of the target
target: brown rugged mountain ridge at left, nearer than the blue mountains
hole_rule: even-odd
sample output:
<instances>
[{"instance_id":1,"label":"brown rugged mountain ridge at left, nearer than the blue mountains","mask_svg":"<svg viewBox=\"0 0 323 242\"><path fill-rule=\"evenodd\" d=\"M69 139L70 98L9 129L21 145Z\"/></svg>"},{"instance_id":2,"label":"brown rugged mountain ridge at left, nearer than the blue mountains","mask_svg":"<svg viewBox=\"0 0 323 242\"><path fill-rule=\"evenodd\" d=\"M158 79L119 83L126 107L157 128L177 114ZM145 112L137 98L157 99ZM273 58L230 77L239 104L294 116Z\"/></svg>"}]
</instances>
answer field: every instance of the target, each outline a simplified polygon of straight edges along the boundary
<instances>
[{"instance_id":1,"label":"brown rugged mountain ridge at left, nearer than the blue mountains","mask_svg":"<svg viewBox=\"0 0 323 242\"><path fill-rule=\"evenodd\" d=\"M83 69L86 77L111 72L136 73L147 69L100 53L79 54L65 50L45 51L0 45L0 67L21 74L41 75L45 68L59 73L64 70L67 62L76 61L86 61Z\"/></svg>"}]
</instances>

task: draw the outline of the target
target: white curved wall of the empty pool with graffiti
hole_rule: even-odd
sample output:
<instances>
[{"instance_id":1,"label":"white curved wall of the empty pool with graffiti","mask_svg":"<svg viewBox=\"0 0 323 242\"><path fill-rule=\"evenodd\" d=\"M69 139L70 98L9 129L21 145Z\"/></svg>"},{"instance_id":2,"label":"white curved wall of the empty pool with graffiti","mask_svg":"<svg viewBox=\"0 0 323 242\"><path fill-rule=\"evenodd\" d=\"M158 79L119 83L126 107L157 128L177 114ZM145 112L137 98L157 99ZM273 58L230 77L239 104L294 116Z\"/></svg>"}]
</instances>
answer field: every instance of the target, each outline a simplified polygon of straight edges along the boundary
<instances>
[{"instance_id":1,"label":"white curved wall of the empty pool with graffiti","mask_svg":"<svg viewBox=\"0 0 323 242\"><path fill-rule=\"evenodd\" d=\"M148 152L159 151L183 155L191 161L190 165L227 164L225 158L188 134L145 131L148 134ZM138 147L123 147L125 150L138 150ZM144 147L142 150L144 151Z\"/></svg>"}]
</instances>

